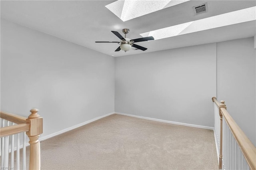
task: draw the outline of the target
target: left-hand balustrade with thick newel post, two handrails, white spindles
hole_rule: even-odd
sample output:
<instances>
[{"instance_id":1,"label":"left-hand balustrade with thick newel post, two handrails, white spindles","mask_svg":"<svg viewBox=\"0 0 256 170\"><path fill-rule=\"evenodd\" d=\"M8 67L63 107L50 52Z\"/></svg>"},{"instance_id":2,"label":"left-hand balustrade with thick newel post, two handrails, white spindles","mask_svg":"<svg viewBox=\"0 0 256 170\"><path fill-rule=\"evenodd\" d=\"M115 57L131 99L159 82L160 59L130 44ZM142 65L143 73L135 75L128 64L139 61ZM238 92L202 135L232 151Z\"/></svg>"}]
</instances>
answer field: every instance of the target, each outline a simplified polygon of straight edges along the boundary
<instances>
[{"instance_id":1,"label":"left-hand balustrade with thick newel post, two handrails, white spindles","mask_svg":"<svg viewBox=\"0 0 256 170\"><path fill-rule=\"evenodd\" d=\"M2 151L4 150L5 153L2 152L1 156L1 166L8 167L8 155L9 155L9 136L11 138L11 166L14 167L14 134L17 134L17 150L16 150L16 169L20 168L19 156L20 156L20 132L24 132L23 134L23 156L26 157L26 135L30 139L30 161L29 161L29 169L30 170L40 170L40 142L38 140L40 134L43 132L43 118L38 115L38 109L31 109L31 114L28 118L14 115L11 113L6 113L1 111L0 117L4 120L12 122L12 126L6 126L0 128L0 137L2 138L1 142L5 142L6 148L2 147ZM3 121L4 123L4 121ZM14 125L14 123L18 125ZM26 134L25 134L26 132ZM3 143L2 143L2 146ZM5 157L3 156L5 154ZM4 160L4 161L3 161ZM23 158L24 160L24 158ZM23 161L22 169L26 169L26 161Z\"/></svg>"}]
</instances>

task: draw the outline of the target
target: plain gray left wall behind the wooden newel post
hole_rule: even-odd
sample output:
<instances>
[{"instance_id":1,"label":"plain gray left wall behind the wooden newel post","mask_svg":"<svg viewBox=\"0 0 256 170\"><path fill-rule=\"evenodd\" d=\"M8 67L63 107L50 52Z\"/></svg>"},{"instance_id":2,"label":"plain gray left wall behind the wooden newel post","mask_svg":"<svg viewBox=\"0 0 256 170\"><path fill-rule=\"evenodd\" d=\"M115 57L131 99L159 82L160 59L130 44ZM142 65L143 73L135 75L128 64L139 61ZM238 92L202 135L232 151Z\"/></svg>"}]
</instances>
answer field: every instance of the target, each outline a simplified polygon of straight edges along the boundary
<instances>
[{"instance_id":1,"label":"plain gray left wall behind the wooden newel post","mask_svg":"<svg viewBox=\"0 0 256 170\"><path fill-rule=\"evenodd\" d=\"M1 20L1 110L32 107L42 136L114 112L114 58Z\"/></svg>"}]
</instances>

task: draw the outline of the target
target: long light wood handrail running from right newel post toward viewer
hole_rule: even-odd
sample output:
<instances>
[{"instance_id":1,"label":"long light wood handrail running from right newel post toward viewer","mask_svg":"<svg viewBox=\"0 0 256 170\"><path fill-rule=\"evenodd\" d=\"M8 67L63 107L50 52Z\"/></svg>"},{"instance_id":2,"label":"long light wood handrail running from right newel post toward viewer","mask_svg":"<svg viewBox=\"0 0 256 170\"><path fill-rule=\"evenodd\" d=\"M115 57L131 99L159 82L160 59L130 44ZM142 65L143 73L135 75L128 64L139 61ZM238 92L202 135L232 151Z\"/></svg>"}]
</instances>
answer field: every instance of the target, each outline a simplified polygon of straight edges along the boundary
<instances>
[{"instance_id":1,"label":"long light wood handrail running from right newel post toward viewer","mask_svg":"<svg viewBox=\"0 0 256 170\"><path fill-rule=\"evenodd\" d=\"M238 146L241 148L242 153L244 154L244 158L246 159L250 169L256 170L256 147L248 139L246 134L244 134L242 129L236 124L228 111L224 108L221 108L220 111L222 112L222 115L228 127L230 128L234 138L236 139Z\"/></svg>"}]
</instances>

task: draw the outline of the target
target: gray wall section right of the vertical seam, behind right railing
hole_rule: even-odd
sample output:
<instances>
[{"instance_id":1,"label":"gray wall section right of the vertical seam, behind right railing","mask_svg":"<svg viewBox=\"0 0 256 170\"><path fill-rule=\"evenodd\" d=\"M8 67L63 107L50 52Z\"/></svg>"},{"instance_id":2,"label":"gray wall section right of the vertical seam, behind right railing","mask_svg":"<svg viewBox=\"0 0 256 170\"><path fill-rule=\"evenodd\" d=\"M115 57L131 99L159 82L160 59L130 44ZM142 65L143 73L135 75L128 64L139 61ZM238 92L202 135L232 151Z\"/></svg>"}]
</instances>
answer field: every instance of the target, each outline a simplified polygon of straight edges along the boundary
<instances>
[{"instance_id":1,"label":"gray wall section right of the vertical seam, behind right railing","mask_svg":"<svg viewBox=\"0 0 256 170\"><path fill-rule=\"evenodd\" d=\"M254 39L217 43L217 99L256 145L256 50Z\"/></svg>"}]
</instances>

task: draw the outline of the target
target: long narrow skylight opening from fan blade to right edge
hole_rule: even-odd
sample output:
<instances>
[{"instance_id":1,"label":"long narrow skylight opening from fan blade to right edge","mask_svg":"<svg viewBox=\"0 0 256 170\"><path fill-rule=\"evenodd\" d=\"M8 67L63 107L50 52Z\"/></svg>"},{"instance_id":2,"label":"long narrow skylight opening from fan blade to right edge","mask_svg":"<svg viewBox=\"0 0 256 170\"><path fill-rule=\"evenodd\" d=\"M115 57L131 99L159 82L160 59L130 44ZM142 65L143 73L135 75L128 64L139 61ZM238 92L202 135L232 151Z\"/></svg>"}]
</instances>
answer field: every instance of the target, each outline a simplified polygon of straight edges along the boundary
<instances>
[{"instance_id":1,"label":"long narrow skylight opening from fan blade to right edge","mask_svg":"<svg viewBox=\"0 0 256 170\"><path fill-rule=\"evenodd\" d=\"M188 34L192 32L198 32L202 30L253 21L256 20L255 11L256 7L254 6L251 8L228 12L226 14L212 16L201 20L186 22L183 24L166 27L159 30L145 32L140 35L142 37L153 36L155 40L159 40L162 38L168 38L182 34Z\"/></svg>"}]
</instances>

